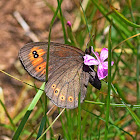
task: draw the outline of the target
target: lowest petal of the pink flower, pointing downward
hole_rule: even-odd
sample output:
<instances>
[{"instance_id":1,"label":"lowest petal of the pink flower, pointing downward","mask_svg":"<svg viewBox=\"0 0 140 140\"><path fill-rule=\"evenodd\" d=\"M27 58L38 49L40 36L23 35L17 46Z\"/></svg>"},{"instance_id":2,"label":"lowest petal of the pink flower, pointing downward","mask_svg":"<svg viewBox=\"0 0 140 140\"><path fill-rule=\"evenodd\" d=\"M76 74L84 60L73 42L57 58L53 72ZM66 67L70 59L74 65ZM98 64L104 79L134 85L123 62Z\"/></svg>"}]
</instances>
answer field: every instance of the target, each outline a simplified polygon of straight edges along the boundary
<instances>
[{"instance_id":1,"label":"lowest petal of the pink flower, pointing downward","mask_svg":"<svg viewBox=\"0 0 140 140\"><path fill-rule=\"evenodd\" d=\"M108 75L108 69L104 69L103 65L98 66L97 75L99 80L104 79Z\"/></svg>"}]
</instances>

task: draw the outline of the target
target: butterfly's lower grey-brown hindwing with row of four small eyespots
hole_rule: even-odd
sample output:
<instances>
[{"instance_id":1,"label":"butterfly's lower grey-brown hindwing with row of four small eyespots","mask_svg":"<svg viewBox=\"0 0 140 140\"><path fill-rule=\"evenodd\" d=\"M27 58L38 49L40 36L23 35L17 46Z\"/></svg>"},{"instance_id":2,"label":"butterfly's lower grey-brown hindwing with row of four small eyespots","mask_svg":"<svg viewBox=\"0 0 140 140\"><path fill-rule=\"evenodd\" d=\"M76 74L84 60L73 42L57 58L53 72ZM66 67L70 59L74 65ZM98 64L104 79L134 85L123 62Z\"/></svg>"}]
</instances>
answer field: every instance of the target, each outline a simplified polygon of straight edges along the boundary
<instances>
[{"instance_id":1,"label":"butterfly's lower grey-brown hindwing with row of four small eyespots","mask_svg":"<svg viewBox=\"0 0 140 140\"><path fill-rule=\"evenodd\" d=\"M45 93L55 105L73 109L78 106L79 93L83 102L88 81L89 73L83 71L82 63L69 61L49 77Z\"/></svg>"}]
</instances>

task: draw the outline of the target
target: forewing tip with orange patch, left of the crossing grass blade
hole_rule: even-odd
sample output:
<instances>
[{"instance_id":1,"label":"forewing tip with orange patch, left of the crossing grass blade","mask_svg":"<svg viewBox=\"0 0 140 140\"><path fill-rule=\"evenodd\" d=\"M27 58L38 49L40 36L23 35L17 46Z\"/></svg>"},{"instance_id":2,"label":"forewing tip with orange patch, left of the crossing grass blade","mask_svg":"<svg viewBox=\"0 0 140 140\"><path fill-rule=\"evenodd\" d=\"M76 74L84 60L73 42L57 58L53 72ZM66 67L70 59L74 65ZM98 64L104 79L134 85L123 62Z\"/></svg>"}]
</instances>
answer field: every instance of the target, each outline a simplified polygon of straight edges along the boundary
<instances>
[{"instance_id":1,"label":"forewing tip with orange patch, left of the crossing grass blade","mask_svg":"<svg viewBox=\"0 0 140 140\"><path fill-rule=\"evenodd\" d=\"M46 51L44 43L28 43L19 51L19 59L25 70L40 81L45 81Z\"/></svg>"}]
</instances>

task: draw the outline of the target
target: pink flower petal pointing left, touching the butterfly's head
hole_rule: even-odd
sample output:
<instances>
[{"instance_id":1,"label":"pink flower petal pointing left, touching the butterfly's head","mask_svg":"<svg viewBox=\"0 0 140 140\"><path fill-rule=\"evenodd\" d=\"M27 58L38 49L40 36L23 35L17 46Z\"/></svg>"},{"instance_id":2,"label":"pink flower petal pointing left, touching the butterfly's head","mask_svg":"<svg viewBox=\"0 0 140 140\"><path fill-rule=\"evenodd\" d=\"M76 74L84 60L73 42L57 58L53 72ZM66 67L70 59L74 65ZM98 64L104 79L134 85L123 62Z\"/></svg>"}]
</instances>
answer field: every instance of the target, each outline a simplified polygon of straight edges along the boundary
<instances>
[{"instance_id":1,"label":"pink flower petal pointing left, touching the butterfly's head","mask_svg":"<svg viewBox=\"0 0 140 140\"><path fill-rule=\"evenodd\" d=\"M85 65L88 65L88 66L99 65L99 62L91 55L86 54L85 56L83 56L83 58L84 58Z\"/></svg>"}]
</instances>

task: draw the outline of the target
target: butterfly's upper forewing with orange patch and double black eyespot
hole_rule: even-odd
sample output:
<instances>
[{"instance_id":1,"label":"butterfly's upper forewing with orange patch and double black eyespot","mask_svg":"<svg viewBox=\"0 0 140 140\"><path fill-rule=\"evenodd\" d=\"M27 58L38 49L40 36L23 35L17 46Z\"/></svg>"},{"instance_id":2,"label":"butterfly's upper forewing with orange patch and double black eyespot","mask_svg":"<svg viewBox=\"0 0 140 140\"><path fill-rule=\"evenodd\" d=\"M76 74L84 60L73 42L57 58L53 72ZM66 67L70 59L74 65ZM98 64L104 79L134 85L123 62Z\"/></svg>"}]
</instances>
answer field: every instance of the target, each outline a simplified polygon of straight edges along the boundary
<instances>
[{"instance_id":1,"label":"butterfly's upper forewing with orange patch and double black eyespot","mask_svg":"<svg viewBox=\"0 0 140 140\"><path fill-rule=\"evenodd\" d=\"M19 51L19 59L27 72L34 78L45 81L46 79L46 56L48 43L28 43ZM84 52L78 48L59 43L50 43L49 76L62 65L70 60L77 59L83 62L81 57Z\"/></svg>"}]
</instances>

